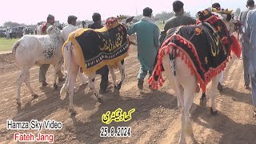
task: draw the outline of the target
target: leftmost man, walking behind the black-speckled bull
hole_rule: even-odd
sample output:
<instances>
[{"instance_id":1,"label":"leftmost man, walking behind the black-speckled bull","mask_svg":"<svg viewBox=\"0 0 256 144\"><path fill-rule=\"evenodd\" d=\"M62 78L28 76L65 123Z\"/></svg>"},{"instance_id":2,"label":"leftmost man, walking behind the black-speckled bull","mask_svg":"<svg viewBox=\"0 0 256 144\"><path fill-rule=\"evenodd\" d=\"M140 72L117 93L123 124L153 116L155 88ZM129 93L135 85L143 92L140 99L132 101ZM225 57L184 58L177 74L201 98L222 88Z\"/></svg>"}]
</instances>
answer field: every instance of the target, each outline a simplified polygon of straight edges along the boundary
<instances>
[{"instance_id":1,"label":"leftmost man, walking behind the black-speckled bull","mask_svg":"<svg viewBox=\"0 0 256 144\"><path fill-rule=\"evenodd\" d=\"M43 23L42 24L42 30L41 33L42 34L47 34L46 30L49 26L54 26L54 16L49 14L47 17L47 23ZM39 82L42 83L42 86L47 86L48 83L46 82L46 72L49 69L50 64L43 64L42 66L40 66L40 70L39 70ZM65 77L64 74L62 74L62 71L59 70L58 73L58 82L63 82L65 81Z\"/></svg>"}]
</instances>

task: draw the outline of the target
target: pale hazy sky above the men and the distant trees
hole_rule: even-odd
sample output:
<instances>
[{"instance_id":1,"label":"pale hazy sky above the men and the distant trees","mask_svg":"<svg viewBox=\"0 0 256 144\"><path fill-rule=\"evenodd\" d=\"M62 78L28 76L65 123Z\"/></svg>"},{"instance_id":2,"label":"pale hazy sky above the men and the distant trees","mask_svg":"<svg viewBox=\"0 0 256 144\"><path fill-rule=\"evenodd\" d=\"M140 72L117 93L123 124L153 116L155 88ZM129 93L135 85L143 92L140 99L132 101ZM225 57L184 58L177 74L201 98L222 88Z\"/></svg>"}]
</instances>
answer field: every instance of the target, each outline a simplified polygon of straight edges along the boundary
<instances>
[{"instance_id":1,"label":"pale hazy sky above the men and the distant trees","mask_svg":"<svg viewBox=\"0 0 256 144\"><path fill-rule=\"evenodd\" d=\"M219 2L222 8L246 9L246 0L212 0ZM4 0L1 2L0 26L4 22L36 24L46 21L48 14L53 14L56 21L66 22L69 15L78 20L92 20L91 15L98 12L102 19L119 14L136 16L142 14L145 7L150 7L153 14L162 11L171 12L174 0ZM182 0L184 9L192 16L199 10L211 6L210 0ZM136 13L137 11L137 13Z\"/></svg>"}]
</instances>

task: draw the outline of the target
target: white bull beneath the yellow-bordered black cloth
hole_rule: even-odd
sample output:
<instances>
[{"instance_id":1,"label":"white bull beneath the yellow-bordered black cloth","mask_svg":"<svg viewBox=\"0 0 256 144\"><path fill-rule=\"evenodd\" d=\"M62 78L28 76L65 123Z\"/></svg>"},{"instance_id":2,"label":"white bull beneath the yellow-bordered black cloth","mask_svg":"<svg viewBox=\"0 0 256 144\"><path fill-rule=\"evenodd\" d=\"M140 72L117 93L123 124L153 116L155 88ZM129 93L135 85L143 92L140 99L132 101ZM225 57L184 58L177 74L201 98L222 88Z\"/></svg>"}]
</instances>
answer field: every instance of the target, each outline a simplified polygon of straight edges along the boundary
<instances>
[{"instance_id":1,"label":"white bull beneath the yellow-bordered black cloth","mask_svg":"<svg viewBox=\"0 0 256 144\"><path fill-rule=\"evenodd\" d=\"M133 18L134 17L125 19L125 21L122 22L123 26L126 26L126 24L128 22L131 22ZM67 78L66 78L65 84L62 86L62 89L60 91L60 95L62 99L66 98L66 93L70 97L70 114L75 114L75 110L73 106L74 85L76 82L79 66L82 66L82 64L78 59L79 58L78 53L76 50L74 50L73 46L74 45L71 42L69 42L68 44L66 44L66 47L64 47L63 58L66 64L65 66L67 70ZM121 74L121 80L118 83L116 83L116 75L114 74L114 67L118 67ZM118 92L121 89L122 82L125 79L124 61L117 62L114 64L114 66L109 66L109 69L110 69L110 74L114 81L114 90ZM93 90L94 96L97 99L97 101L102 103L102 98L99 97L98 92L96 91L94 86L95 76L96 76L96 71L89 74L88 76L90 90Z\"/></svg>"}]
</instances>

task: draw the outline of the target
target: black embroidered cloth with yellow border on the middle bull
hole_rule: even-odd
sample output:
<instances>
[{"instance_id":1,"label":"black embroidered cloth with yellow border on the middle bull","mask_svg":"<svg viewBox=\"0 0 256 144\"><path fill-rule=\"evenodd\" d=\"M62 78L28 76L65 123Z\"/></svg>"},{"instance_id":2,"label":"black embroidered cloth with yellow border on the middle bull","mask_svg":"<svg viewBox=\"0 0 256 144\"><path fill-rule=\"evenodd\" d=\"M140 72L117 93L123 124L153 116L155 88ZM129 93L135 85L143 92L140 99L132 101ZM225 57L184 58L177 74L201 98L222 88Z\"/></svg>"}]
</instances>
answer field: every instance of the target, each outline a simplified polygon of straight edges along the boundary
<instances>
[{"instance_id":1,"label":"black embroidered cloth with yellow border on the middle bull","mask_svg":"<svg viewBox=\"0 0 256 144\"><path fill-rule=\"evenodd\" d=\"M81 57L82 70L90 73L128 56L126 34L126 28L118 24L98 30L78 29L70 34L68 41L74 44Z\"/></svg>"}]
</instances>

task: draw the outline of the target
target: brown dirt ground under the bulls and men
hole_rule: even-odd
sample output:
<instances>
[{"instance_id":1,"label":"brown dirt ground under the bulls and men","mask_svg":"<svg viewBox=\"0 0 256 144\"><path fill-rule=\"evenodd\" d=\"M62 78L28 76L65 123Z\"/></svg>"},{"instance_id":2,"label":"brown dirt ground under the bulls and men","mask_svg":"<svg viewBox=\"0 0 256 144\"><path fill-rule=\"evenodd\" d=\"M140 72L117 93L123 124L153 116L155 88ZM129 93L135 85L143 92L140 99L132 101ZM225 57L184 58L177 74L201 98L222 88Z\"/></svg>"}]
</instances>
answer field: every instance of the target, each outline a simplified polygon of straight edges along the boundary
<instances>
[{"instance_id":1,"label":"brown dirt ground under the bulls and men","mask_svg":"<svg viewBox=\"0 0 256 144\"><path fill-rule=\"evenodd\" d=\"M47 73L50 85L40 86L38 82L38 66L30 69L30 82L39 95L32 99L26 85L22 85L22 106L15 102L16 78L19 70L14 64L12 54L0 54L0 141L14 143L14 133L33 133L37 130L6 130L6 119L27 121L37 119L54 119L63 123L62 130L42 130L42 134L54 134L56 143L178 143L180 134L180 112L174 91L166 81L160 90L152 92L145 82L144 90L137 88L139 63L136 50L130 50L125 60L126 80L122 85L120 96L113 92L103 95L104 102L98 104L88 86L80 86L77 82L74 93L75 117L69 113L69 98L60 99L58 90L53 89L53 67ZM119 77L118 77L119 78ZM112 81L110 79L110 81ZM225 86L217 96L218 114L210 114L208 106L199 105L199 96L194 99L191 108L191 120L194 136L198 143L256 143L256 119L252 117L252 100L250 90L243 87L242 61L238 58L228 63L225 71ZM96 82L98 89L99 80ZM113 90L113 88L111 88ZM209 92L206 93L209 95ZM135 108L129 122L111 122L110 126L130 126L130 138L100 138L102 114L107 110L122 108L124 111ZM187 143L192 143L187 138Z\"/></svg>"}]
</instances>

